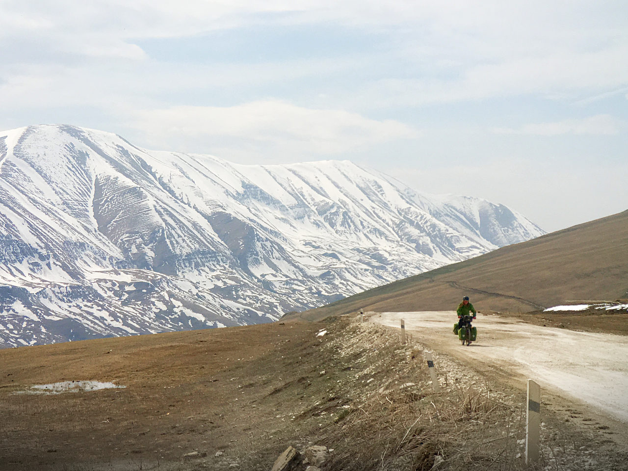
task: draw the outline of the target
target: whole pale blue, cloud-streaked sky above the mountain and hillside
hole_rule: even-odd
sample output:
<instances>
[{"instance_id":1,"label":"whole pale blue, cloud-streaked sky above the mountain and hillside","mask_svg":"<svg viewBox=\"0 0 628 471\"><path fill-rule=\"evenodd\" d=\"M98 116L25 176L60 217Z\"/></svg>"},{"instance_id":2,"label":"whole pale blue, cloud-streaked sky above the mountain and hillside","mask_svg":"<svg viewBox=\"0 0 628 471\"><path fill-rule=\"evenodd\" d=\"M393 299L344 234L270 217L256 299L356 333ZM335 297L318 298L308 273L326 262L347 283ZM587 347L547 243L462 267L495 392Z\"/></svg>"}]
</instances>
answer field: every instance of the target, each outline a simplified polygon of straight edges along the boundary
<instances>
[{"instance_id":1,"label":"whole pale blue, cloud-streaked sky above the mountain and hillside","mask_svg":"<svg viewBox=\"0 0 628 471\"><path fill-rule=\"evenodd\" d=\"M0 129L349 159L548 231L628 209L623 0L0 0L0 63Z\"/></svg>"}]
</instances>

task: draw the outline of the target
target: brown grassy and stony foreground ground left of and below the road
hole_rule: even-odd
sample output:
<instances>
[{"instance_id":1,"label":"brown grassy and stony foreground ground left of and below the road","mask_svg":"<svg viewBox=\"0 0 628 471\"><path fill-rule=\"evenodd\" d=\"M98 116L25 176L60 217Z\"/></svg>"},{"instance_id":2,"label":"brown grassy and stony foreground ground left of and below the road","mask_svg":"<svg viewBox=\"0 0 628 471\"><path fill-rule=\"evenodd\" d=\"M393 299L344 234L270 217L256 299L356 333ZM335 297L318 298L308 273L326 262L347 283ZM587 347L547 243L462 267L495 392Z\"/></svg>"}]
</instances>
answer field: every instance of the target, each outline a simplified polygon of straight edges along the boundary
<instances>
[{"instance_id":1,"label":"brown grassy and stony foreground ground left of and below the road","mask_svg":"<svg viewBox=\"0 0 628 471\"><path fill-rule=\"evenodd\" d=\"M0 470L517 470L526 394L352 317L0 351ZM26 394L94 380L123 389ZM547 470L625 470L620 431L546 399Z\"/></svg>"}]
</instances>

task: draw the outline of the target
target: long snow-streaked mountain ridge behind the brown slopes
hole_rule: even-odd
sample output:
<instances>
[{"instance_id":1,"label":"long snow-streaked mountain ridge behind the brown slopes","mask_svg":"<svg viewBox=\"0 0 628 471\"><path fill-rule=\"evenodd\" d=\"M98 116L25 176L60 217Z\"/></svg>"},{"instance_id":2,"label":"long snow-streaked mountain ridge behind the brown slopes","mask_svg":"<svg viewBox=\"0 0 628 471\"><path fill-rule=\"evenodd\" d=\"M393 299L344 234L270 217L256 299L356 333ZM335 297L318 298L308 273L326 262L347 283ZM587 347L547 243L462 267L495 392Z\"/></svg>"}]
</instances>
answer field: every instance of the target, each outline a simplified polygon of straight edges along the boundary
<instances>
[{"instance_id":1,"label":"long snow-streaked mountain ridge behind the brown slopes","mask_svg":"<svg viewBox=\"0 0 628 471\"><path fill-rule=\"evenodd\" d=\"M0 346L271 322L543 234L349 161L245 166L0 133Z\"/></svg>"}]
</instances>

